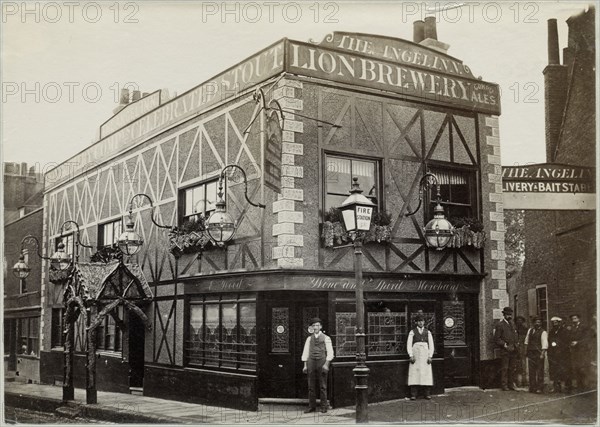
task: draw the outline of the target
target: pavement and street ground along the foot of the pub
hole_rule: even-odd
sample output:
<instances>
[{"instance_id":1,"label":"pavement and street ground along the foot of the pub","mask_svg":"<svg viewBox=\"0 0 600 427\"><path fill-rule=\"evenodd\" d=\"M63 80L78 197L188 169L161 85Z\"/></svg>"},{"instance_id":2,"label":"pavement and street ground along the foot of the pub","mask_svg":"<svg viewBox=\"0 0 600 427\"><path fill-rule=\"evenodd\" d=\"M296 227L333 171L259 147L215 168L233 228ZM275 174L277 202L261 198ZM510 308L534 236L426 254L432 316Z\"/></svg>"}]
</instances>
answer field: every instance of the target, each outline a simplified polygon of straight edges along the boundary
<instances>
[{"instance_id":1,"label":"pavement and street ground along the foot of the pub","mask_svg":"<svg viewBox=\"0 0 600 427\"><path fill-rule=\"evenodd\" d=\"M158 399L98 392L98 404L85 404L85 390L75 400L61 401L62 388L53 385L4 383L6 408L26 408L69 417L80 424L354 424L355 408L304 414L305 406L261 404L244 411ZM5 409L6 409L5 408ZM597 424L596 390L575 394L534 394L526 389L501 391L477 387L447 389L431 400L398 399L369 404L370 424ZM10 422L8 412L5 421Z\"/></svg>"}]
</instances>

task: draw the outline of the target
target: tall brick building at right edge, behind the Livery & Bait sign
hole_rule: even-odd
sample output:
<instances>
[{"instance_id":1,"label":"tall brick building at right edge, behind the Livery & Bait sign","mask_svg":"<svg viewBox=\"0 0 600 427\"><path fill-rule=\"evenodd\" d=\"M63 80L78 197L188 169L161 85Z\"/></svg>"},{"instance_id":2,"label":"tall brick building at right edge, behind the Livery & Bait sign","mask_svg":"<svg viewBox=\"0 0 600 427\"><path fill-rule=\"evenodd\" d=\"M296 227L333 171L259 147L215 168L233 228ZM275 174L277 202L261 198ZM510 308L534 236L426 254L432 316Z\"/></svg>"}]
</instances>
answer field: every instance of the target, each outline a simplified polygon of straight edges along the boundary
<instances>
[{"instance_id":1,"label":"tall brick building at right edge, behind the Livery & Bait sign","mask_svg":"<svg viewBox=\"0 0 600 427\"><path fill-rule=\"evenodd\" d=\"M548 65L544 69L546 161L596 166L595 9L567 20L569 35L560 62L557 23L548 21ZM596 211L525 211L525 261L509 289L518 315L568 321L578 313L595 324Z\"/></svg>"}]
</instances>

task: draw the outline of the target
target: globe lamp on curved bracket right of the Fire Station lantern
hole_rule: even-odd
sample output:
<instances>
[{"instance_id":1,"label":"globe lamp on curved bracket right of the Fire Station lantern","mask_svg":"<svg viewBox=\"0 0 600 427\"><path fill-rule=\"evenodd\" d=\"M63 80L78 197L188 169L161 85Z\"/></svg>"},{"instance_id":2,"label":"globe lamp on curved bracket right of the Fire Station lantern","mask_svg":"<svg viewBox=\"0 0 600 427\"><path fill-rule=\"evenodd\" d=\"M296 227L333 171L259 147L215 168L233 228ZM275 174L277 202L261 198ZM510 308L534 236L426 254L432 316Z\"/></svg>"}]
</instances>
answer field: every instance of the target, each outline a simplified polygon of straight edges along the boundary
<instances>
[{"instance_id":1,"label":"globe lamp on curved bracket right of the Fire Station lantern","mask_svg":"<svg viewBox=\"0 0 600 427\"><path fill-rule=\"evenodd\" d=\"M430 183L430 180L433 182ZM435 248L436 250L441 251L446 246L448 246L448 244L452 240L452 236L454 235L454 227L444 215L444 208L441 205L442 196L440 194L440 184L437 176L435 176L431 172L427 172L425 175L423 175L423 177L419 181L419 205L417 206L417 209L415 209L413 212L407 212L406 216L414 215L419 211L423 200L423 187L429 187L429 185L436 186L437 204L433 209L433 219L429 221L423 229L425 232L425 242L430 248Z\"/></svg>"}]
</instances>

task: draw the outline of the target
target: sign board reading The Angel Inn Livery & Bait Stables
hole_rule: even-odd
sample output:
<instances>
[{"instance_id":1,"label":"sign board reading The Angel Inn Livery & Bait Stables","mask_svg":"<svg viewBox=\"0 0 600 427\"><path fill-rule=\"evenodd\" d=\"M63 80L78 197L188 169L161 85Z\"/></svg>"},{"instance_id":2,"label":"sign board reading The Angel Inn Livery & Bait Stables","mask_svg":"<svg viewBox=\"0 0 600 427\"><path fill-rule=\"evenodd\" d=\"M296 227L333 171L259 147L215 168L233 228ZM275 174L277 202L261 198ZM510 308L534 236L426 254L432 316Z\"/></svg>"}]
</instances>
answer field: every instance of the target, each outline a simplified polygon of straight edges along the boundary
<instances>
[{"instance_id":1,"label":"sign board reading The Angel Inn Livery & Bait Stables","mask_svg":"<svg viewBox=\"0 0 600 427\"><path fill-rule=\"evenodd\" d=\"M505 166L502 192L504 209L595 209L595 169L552 163Z\"/></svg>"}]
</instances>

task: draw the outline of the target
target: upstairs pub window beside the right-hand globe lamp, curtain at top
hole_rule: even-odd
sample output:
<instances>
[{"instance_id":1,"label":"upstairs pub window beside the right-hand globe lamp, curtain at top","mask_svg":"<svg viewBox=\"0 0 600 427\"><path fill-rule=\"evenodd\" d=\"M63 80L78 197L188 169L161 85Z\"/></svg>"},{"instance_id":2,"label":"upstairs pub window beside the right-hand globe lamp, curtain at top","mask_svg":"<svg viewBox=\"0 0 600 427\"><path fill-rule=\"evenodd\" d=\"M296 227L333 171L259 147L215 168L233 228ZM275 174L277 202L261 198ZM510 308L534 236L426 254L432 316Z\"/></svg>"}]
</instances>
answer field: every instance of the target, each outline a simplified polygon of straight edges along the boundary
<instances>
[{"instance_id":1,"label":"upstairs pub window beside the right-hand globe lamp, curtain at top","mask_svg":"<svg viewBox=\"0 0 600 427\"><path fill-rule=\"evenodd\" d=\"M454 167L433 166L429 169L435 174L440 184L440 195L446 218L477 218L477 186L475 171ZM429 202L432 209L428 215L433 216L436 203L436 188L429 190ZM452 221L451 221L452 222Z\"/></svg>"}]
</instances>

